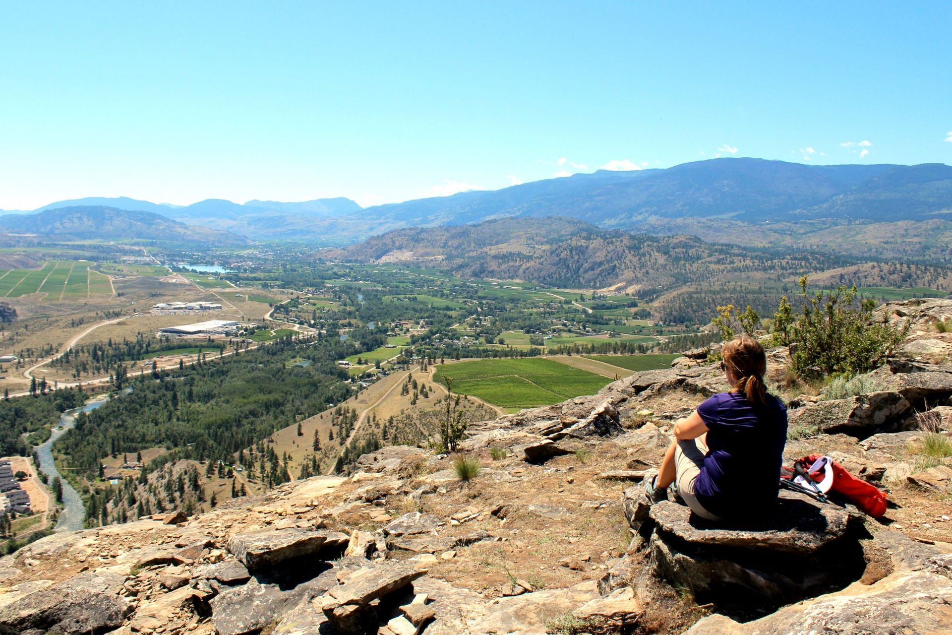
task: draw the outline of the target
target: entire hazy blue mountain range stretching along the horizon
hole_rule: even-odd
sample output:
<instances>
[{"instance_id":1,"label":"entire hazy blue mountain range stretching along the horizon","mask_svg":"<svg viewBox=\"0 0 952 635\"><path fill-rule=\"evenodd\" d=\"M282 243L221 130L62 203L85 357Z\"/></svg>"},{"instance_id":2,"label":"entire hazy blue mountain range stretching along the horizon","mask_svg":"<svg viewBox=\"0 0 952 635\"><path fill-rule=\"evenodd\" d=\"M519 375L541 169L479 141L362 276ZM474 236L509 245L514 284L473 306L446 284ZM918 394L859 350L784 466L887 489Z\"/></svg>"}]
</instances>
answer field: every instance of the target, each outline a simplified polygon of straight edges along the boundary
<instances>
[{"instance_id":1,"label":"entire hazy blue mountain range stretching along the horizon","mask_svg":"<svg viewBox=\"0 0 952 635\"><path fill-rule=\"evenodd\" d=\"M320 239L338 244L393 228L558 215L601 228L782 245L809 242L811 232L831 227L897 221L938 221L938 227L933 223L925 235L935 236L937 230L940 235L952 235L952 225L945 225L952 219L952 167L809 166L721 158L669 169L598 170L371 208L360 208L346 198L244 205L209 199L179 208L125 198L92 198L41 209L77 205L150 211L254 239Z\"/></svg>"}]
</instances>

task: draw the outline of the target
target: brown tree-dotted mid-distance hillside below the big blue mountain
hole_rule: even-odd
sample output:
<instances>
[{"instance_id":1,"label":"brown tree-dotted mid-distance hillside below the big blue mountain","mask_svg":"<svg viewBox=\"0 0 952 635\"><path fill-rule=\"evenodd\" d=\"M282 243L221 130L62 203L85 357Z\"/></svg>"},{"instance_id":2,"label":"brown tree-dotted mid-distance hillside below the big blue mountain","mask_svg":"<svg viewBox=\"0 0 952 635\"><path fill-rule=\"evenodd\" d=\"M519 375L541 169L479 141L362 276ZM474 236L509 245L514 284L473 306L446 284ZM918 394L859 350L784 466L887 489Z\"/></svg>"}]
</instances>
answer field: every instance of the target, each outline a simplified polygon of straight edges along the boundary
<instances>
[{"instance_id":1,"label":"brown tree-dotted mid-distance hillside below the big blue mountain","mask_svg":"<svg viewBox=\"0 0 952 635\"><path fill-rule=\"evenodd\" d=\"M819 246L818 246L819 247ZM625 288L645 296L675 288L715 288L728 282L777 288L803 274L866 262L794 248L707 243L694 236L651 236L600 229L565 218L504 218L477 225L395 229L316 257L347 262L397 262L440 268L464 277L526 280L563 288ZM902 284L907 266L857 269L876 285ZM902 271L900 270L902 269ZM922 269L922 270L920 270ZM928 271L926 271L928 269ZM946 268L917 268L917 279L945 288ZM724 293L724 288L718 288ZM763 290L763 289L762 289Z\"/></svg>"}]
</instances>

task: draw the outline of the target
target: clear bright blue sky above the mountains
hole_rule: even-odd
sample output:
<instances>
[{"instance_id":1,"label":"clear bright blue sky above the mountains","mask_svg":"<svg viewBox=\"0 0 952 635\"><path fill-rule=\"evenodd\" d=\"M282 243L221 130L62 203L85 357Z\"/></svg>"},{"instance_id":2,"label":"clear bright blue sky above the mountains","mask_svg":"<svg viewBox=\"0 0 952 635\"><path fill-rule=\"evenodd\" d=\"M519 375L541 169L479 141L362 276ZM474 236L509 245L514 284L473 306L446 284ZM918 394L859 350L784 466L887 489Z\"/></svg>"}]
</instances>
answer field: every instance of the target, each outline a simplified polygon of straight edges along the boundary
<instances>
[{"instance_id":1,"label":"clear bright blue sky above the mountains","mask_svg":"<svg viewBox=\"0 0 952 635\"><path fill-rule=\"evenodd\" d=\"M952 3L3 3L0 208L952 163Z\"/></svg>"}]
</instances>

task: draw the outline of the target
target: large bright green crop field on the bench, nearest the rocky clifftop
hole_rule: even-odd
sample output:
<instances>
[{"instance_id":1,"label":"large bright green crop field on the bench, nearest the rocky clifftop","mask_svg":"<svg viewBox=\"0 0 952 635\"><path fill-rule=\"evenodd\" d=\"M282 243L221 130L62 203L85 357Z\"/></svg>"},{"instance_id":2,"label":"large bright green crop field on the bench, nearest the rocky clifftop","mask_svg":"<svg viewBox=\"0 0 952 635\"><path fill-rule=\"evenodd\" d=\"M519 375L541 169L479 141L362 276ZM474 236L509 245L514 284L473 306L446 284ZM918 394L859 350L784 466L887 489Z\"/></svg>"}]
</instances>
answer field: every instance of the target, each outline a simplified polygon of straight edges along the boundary
<instances>
[{"instance_id":1,"label":"large bright green crop field on the bench, nearest the rocky clifftop","mask_svg":"<svg viewBox=\"0 0 952 635\"><path fill-rule=\"evenodd\" d=\"M474 360L439 367L433 379L453 392L513 410L549 406L598 392L611 380L542 358Z\"/></svg>"}]
</instances>

